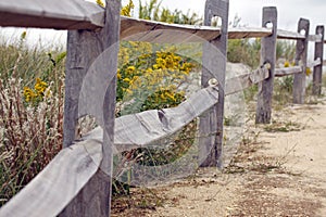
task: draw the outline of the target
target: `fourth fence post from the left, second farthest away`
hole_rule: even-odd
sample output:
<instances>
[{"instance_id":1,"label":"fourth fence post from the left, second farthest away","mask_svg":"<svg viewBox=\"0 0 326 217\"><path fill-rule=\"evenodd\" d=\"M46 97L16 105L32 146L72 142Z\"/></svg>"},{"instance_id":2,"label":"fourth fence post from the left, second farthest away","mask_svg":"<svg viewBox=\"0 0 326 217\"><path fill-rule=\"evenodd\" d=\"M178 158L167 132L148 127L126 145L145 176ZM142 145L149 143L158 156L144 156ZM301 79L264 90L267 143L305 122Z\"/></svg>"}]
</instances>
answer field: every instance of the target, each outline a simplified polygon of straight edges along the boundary
<instances>
[{"instance_id":1,"label":"fourth fence post from the left, second farthest away","mask_svg":"<svg viewBox=\"0 0 326 217\"><path fill-rule=\"evenodd\" d=\"M300 18L298 24L298 33L304 33L304 39L297 40L296 65L302 64L302 72L300 74L296 74L293 80L293 103L297 104L303 104L305 97L305 71L308 58L309 27L310 22L305 18Z\"/></svg>"}]
</instances>

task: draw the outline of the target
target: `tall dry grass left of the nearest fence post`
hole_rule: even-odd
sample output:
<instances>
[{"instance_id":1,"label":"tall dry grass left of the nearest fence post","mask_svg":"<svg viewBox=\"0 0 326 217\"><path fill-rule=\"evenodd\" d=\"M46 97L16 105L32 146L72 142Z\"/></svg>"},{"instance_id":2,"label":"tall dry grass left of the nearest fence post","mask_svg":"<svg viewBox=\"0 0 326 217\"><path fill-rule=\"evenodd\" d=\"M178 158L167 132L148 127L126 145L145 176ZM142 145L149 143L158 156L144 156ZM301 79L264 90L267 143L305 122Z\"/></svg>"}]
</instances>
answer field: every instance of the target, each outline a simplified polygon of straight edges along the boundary
<instances>
[{"instance_id":1,"label":"tall dry grass left of the nearest fence post","mask_svg":"<svg viewBox=\"0 0 326 217\"><path fill-rule=\"evenodd\" d=\"M0 205L27 184L61 150L65 53L27 48L24 35L0 43ZM47 94L27 102L36 78Z\"/></svg>"}]
</instances>

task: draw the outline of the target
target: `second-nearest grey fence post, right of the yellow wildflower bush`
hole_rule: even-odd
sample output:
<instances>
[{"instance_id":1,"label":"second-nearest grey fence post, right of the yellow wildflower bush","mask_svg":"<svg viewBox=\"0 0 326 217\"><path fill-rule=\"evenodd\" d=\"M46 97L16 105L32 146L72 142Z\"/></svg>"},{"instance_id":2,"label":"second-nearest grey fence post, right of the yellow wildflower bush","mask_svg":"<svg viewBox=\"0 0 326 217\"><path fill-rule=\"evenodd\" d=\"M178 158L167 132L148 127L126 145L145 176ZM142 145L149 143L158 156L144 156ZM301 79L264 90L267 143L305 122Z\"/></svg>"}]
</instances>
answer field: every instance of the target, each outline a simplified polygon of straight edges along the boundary
<instances>
[{"instance_id":1,"label":"second-nearest grey fence post, right of the yellow wildflower bush","mask_svg":"<svg viewBox=\"0 0 326 217\"><path fill-rule=\"evenodd\" d=\"M226 71L226 48L228 29L228 0L206 0L204 25L211 26L212 18L222 18L221 36L203 46L202 87L215 78L218 81L218 103L200 117L200 151L201 166L223 167L223 122L224 122L224 88ZM215 68L209 72L206 68Z\"/></svg>"}]
</instances>

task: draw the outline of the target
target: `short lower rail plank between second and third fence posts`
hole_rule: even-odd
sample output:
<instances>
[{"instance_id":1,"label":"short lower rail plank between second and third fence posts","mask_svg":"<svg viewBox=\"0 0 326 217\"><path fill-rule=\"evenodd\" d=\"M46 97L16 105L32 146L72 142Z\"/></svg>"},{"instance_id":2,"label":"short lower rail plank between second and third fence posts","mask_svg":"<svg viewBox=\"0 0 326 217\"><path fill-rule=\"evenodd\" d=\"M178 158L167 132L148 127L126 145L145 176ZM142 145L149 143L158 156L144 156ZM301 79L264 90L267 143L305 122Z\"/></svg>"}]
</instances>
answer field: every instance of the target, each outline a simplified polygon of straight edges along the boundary
<instances>
[{"instance_id":1,"label":"short lower rail plank between second and third fence posts","mask_svg":"<svg viewBox=\"0 0 326 217\"><path fill-rule=\"evenodd\" d=\"M252 85L259 84L269 77L268 68L259 68L252 73L237 76L226 80L225 95L242 91Z\"/></svg>"}]
</instances>

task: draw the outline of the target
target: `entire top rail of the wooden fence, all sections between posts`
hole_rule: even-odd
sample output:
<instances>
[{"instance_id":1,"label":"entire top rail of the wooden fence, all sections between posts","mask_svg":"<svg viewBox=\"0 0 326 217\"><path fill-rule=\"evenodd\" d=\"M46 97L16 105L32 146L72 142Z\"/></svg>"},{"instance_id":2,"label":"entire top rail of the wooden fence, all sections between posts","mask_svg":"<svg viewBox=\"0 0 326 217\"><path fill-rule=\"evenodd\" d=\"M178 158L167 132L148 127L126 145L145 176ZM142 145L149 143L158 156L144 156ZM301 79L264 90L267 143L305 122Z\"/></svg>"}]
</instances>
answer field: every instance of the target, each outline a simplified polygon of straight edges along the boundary
<instances>
[{"instance_id":1,"label":"entire top rail of the wooden fence, all sections between posts","mask_svg":"<svg viewBox=\"0 0 326 217\"><path fill-rule=\"evenodd\" d=\"M209 26L167 24L122 16L121 38L149 42L193 42L213 40L221 29ZM0 1L0 26L38 27L54 29L96 29L104 25L104 9L78 0L15 0ZM150 34L155 30L156 33ZM160 35L163 30L179 30L180 34ZM189 35L193 37L189 37ZM262 38L272 35L271 28L239 27L228 30L229 39ZM277 30L278 39L304 39L299 33ZM321 41L321 36L312 35L310 41ZM326 43L326 40L324 41Z\"/></svg>"}]
</instances>

